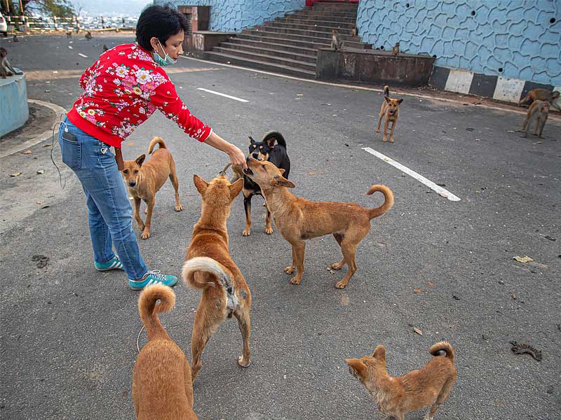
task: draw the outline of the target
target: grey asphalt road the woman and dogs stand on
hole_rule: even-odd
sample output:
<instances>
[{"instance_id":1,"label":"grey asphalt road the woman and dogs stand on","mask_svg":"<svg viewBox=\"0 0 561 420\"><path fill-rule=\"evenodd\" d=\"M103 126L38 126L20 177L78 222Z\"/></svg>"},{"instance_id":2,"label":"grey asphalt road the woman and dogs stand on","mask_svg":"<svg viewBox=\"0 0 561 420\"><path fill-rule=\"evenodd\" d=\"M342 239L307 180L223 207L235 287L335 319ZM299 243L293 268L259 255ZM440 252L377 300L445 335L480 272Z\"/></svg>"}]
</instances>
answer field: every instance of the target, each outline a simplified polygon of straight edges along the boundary
<instances>
[{"instance_id":1,"label":"grey asphalt road the woman and dogs stand on","mask_svg":"<svg viewBox=\"0 0 561 420\"><path fill-rule=\"evenodd\" d=\"M132 38L72 41L34 36L1 42L13 64L28 72L30 98L68 109L79 94L81 71L101 45ZM290 246L276 229L264 234L259 197L250 237L241 235L243 200L236 199L231 255L252 290L253 363L238 367L240 333L234 321L224 323L205 348L194 384L200 419L381 419L344 358L385 344L388 370L398 375L424 365L429 346L441 339L456 349L458 380L436 418L561 418L559 118L548 120L543 141L523 139L513 132L522 124L520 113L405 95L396 142L383 144L373 128L378 92L190 59L170 73L191 111L238 146L245 148L248 134L282 132L296 195L374 207L381 197L365 192L384 183L396 199L388 214L372 221L345 290L334 288L344 272L326 270L341 255L332 237L308 242L304 279L292 286L283 273ZM161 115L127 139L125 158L145 153L156 135L175 158L184 211L175 213L173 188L165 184L151 238L140 241L137 235L152 268L179 274L201 209L192 176L211 179L227 159ZM365 147L444 184L461 200L440 197ZM30 165L32 158L20 154L4 158L0 170L1 197L13 206L36 202L29 183L53 191L49 207L37 204L0 237L0 417L132 419L138 293L128 289L122 272L95 271L79 183L65 171L67 186L60 190L48 148L38 145L32 152L44 162L44 178L9 177ZM55 160L60 163L57 149ZM48 265L37 268L34 255L47 256ZM517 262L516 255L534 261ZM161 320L190 359L200 294L183 283L175 293L175 309ZM145 340L142 335L140 344ZM541 350L543 360L514 355L511 340Z\"/></svg>"}]
</instances>

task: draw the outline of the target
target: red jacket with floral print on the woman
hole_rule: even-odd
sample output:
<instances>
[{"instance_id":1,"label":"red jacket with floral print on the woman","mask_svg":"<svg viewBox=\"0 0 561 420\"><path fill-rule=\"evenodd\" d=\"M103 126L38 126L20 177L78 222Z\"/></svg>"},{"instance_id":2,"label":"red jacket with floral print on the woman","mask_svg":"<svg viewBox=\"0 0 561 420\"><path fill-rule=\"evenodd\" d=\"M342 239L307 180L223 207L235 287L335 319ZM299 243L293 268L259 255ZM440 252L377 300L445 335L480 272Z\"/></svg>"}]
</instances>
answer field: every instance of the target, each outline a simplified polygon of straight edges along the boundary
<instances>
[{"instance_id":1,"label":"red jacket with floral print on the woman","mask_svg":"<svg viewBox=\"0 0 561 420\"><path fill-rule=\"evenodd\" d=\"M110 146L144 123L156 109L189 136L205 141L212 129L192 115L168 75L137 44L104 52L80 78L83 94L67 117L79 129Z\"/></svg>"}]
</instances>

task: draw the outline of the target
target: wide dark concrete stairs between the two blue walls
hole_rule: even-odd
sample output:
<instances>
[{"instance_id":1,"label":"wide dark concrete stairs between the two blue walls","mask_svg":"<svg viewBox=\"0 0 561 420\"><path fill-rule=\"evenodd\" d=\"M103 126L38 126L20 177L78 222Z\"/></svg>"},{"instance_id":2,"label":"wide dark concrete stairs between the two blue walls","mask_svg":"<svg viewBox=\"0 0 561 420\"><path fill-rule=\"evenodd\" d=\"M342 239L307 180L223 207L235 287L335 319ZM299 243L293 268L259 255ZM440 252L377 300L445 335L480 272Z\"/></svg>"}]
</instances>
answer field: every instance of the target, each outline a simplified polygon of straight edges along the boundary
<instances>
[{"instance_id":1,"label":"wide dark concrete stairs between the two blue walls","mask_svg":"<svg viewBox=\"0 0 561 420\"><path fill-rule=\"evenodd\" d=\"M332 29L337 29L346 47L372 48L360 37L351 36L357 9L358 3L315 3L312 7L264 25L244 29L241 34L206 52L205 58L273 73L315 78L318 48L331 46Z\"/></svg>"}]
</instances>

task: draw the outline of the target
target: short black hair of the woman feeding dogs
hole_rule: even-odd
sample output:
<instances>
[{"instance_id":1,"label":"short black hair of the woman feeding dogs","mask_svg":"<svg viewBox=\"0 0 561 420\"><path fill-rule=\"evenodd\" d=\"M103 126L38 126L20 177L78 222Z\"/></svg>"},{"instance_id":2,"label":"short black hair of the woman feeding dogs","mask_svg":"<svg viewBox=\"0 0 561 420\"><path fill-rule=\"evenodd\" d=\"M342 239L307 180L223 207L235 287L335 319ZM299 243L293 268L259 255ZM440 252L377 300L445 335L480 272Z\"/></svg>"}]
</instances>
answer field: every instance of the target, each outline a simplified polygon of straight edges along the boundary
<instances>
[{"instance_id":1,"label":"short black hair of the woman feeding dogs","mask_svg":"<svg viewBox=\"0 0 561 420\"><path fill-rule=\"evenodd\" d=\"M150 39L156 36L162 45L172 35L179 34L181 30L187 32L188 22L183 13L175 8L165 6L148 6L142 13L136 25L136 41L144 50L153 50Z\"/></svg>"}]
</instances>

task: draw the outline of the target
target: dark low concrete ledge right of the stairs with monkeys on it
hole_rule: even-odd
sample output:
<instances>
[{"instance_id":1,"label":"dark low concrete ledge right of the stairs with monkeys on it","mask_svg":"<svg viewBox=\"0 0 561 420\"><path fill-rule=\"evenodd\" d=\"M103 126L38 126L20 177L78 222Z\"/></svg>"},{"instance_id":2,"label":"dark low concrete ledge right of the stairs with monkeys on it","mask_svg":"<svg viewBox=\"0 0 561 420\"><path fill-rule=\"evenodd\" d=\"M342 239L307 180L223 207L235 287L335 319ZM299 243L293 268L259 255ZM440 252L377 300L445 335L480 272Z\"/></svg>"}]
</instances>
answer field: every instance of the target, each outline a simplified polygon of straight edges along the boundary
<instances>
[{"instance_id":1,"label":"dark low concrete ledge right of the stairs with monkeys on it","mask_svg":"<svg viewBox=\"0 0 561 420\"><path fill-rule=\"evenodd\" d=\"M421 86L428 84L435 58L428 55L400 54L389 51L344 48L318 50L316 78L354 80L367 83Z\"/></svg>"}]
</instances>

